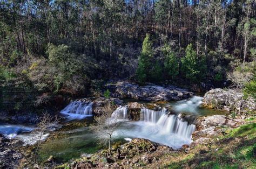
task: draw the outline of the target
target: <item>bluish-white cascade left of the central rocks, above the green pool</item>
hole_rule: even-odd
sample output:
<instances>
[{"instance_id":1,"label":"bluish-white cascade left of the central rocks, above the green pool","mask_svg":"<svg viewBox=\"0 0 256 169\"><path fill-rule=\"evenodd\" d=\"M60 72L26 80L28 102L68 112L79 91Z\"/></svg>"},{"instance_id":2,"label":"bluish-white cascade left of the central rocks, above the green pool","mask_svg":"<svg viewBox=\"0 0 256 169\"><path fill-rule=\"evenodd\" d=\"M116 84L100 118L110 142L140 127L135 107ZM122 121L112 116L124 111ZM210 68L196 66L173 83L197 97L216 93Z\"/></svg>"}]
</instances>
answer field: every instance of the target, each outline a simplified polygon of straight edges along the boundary
<instances>
[{"instance_id":1,"label":"bluish-white cascade left of the central rocks, above the green pool","mask_svg":"<svg viewBox=\"0 0 256 169\"><path fill-rule=\"evenodd\" d=\"M60 113L65 115L69 121L73 119L84 119L93 116L92 103L73 101L60 111Z\"/></svg>"}]
</instances>

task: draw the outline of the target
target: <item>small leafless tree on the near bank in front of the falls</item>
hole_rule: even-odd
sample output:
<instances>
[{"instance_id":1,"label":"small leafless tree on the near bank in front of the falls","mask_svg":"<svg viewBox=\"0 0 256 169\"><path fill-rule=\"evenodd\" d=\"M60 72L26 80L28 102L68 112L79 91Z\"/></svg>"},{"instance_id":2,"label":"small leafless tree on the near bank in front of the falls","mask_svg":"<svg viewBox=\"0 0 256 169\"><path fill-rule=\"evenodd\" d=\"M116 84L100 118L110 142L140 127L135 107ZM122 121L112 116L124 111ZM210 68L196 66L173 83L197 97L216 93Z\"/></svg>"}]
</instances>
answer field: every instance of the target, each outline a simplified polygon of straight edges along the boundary
<instances>
[{"instance_id":1,"label":"small leafless tree on the near bank in front of the falls","mask_svg":"<svg viewBox=\"0 0 256 169\"><path fill-rule=\"evenodd\" d=\"M100 144L108 144L109 154L111 155L111 143L113 132L122 124L117 116L112 116L112 112L116 109L116 105L108 102L103 107L102 114L95 117L95 123L90 129L96 133Z\"/></svg>"}]
</instances>

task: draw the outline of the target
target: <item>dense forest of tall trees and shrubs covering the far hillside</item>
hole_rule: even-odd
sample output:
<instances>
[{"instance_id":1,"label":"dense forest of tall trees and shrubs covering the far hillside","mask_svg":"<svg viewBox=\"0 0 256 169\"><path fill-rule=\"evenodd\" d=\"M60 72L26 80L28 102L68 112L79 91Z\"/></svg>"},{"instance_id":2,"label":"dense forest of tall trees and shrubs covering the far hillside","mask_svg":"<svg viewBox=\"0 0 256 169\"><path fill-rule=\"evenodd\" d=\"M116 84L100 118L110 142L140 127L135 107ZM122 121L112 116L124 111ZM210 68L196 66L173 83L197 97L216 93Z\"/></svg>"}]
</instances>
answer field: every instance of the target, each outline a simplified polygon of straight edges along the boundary
<instances>
[{"instance_id":1,"label":"dense forest of tall trees and shrubs covering the far hillside","mask_svg":"<svg viewBox=\"0 0 256 169\"><path fill-rule=\"evenodd\" d=\"M220 85L255 60L254 17L252 0L2 1L0 77L72 94L109 78Z\"/></svg>"}]
</instances>

